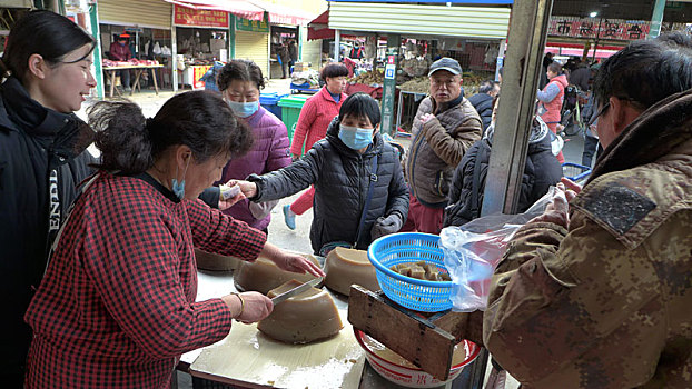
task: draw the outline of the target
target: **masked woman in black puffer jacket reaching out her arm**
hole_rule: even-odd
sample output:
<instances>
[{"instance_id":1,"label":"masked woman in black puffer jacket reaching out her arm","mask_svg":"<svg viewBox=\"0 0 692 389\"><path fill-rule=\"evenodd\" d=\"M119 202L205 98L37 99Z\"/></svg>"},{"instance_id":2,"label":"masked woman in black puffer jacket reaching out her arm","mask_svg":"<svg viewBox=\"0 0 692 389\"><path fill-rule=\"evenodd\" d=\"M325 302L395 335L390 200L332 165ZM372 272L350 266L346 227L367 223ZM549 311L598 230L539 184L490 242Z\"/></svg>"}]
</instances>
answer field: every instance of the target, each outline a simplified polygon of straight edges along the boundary
<instances>
[{"instance_id":1,"label":"masked woman in black puffer jacket reaching out her arm","mask_svg":"<svg viewBox=\"0 0 692 389\"><path fill-rule=\"evenodd\" d=\"M397 232L408 216L398 151L377 131L379 120L375 99L350 96L326 139L291 166L241 181L243 192L253 201L267 201L314 184L310 242L315 253L326 255L335 246L367 249L373 240Z\"/></svg>"}]
</instances>

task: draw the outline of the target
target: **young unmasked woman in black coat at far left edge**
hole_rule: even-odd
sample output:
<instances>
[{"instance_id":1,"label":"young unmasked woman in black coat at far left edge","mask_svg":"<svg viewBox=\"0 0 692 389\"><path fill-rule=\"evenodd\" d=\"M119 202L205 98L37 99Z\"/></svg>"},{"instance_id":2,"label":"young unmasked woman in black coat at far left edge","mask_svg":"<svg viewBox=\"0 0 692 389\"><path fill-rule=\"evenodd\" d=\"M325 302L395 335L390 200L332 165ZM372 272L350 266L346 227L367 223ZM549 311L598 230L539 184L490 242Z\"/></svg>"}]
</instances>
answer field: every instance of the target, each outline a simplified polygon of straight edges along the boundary
<instances>
[{"instance_id":1,"label":"young unmasked woman in black coat at far left edge","mask_svg":"<svg viewBox=\"0 0 692 389\"><path fill-rule=\"evenodd\" d=\"M0 381L21 388L31 328L23 321L50 247L91 173L93 131L72 112L96 87L96 41L69 19L32 11L10 31L0 86ZM8 72L12 76L8 77Z\"/></svg>"}]
</instances>

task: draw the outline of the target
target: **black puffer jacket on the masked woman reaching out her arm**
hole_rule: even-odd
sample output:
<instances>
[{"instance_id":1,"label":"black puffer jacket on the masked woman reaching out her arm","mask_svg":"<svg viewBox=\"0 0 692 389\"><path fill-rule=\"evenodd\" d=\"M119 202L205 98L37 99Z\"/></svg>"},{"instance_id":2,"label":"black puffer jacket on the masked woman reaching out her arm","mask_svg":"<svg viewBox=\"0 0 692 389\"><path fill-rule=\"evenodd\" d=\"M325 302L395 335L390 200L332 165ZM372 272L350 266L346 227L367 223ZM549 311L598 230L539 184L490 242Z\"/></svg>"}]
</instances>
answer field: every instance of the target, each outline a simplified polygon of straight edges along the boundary
<instances>
[{"instance_id":1,"label":"black puffer jacket on the masked woman reaching out her arm","mask_svg":"<svg viewBox=\"0 0 692 389\"><path fill-rule=\"evenodd\" d=\"M349 149L338 139L339 121L329 124L326 139L293 164L264 176L250 176L257 183L254 201L280 199L315 184L315 208L310 242L313 250L329 242L353 243L367 197L372 159L377 153L377 181L373 191L358 249L366 249L370 229L382 216L394 212L406 220L408 216L408 188L404 181L398 153L379 133L365 153Z\"/></svg>"}]
</instances>

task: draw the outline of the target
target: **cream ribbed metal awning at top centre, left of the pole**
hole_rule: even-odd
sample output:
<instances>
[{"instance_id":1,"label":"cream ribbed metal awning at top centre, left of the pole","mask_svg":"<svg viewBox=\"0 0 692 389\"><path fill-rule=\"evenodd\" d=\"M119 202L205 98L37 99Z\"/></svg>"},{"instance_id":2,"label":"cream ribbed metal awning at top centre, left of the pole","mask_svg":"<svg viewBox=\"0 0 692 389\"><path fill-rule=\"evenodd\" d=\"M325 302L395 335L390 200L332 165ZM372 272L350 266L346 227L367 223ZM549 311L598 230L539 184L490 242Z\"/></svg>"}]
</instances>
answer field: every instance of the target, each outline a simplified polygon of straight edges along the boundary
<instances>
[{"instance_id":1,"label":"cream ribbed metal awning at top centre, left of the pole","mask_svg":"<svg viewBox=\"0 0 692 389\"><path fill-rule=\"evenodd\" d=\"M329 28L408 36L504 39L507 7L445 7L376 2L332 2Z\"/></svg>"}]
</instances>

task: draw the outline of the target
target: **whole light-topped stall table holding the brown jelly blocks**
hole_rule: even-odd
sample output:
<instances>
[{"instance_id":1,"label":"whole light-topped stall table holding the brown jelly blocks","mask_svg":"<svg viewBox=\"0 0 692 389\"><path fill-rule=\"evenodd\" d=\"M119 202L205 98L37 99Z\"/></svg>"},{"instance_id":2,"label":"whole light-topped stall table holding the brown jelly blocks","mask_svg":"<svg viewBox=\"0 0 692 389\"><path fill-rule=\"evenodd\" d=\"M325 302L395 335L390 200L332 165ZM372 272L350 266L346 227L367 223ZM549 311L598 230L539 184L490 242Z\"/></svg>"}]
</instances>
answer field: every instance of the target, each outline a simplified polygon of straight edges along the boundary
<instances>
[{"instance_id":1,"label":"whole light-topped stall table holding the brown jelly blocks","mask_svg":"<svg viewBox=\"0 0 692 389\"><path fill-rule=\"evenodd\" d=\"M198 271L198 301L231 291L236 291L231 271ZM258 333L256 325L236 322L226 339L182 355L178 369L247 388L402 388L365 363L364 351L347 320L347 300L340 296L335 296L334 300L344 323L344 329L334 338L312 345L285 345ZM308 360L317 365L316 359L324 363L305 366ZM449 382L439 388L451 387Z\"/></svg>"}]
</instances>

